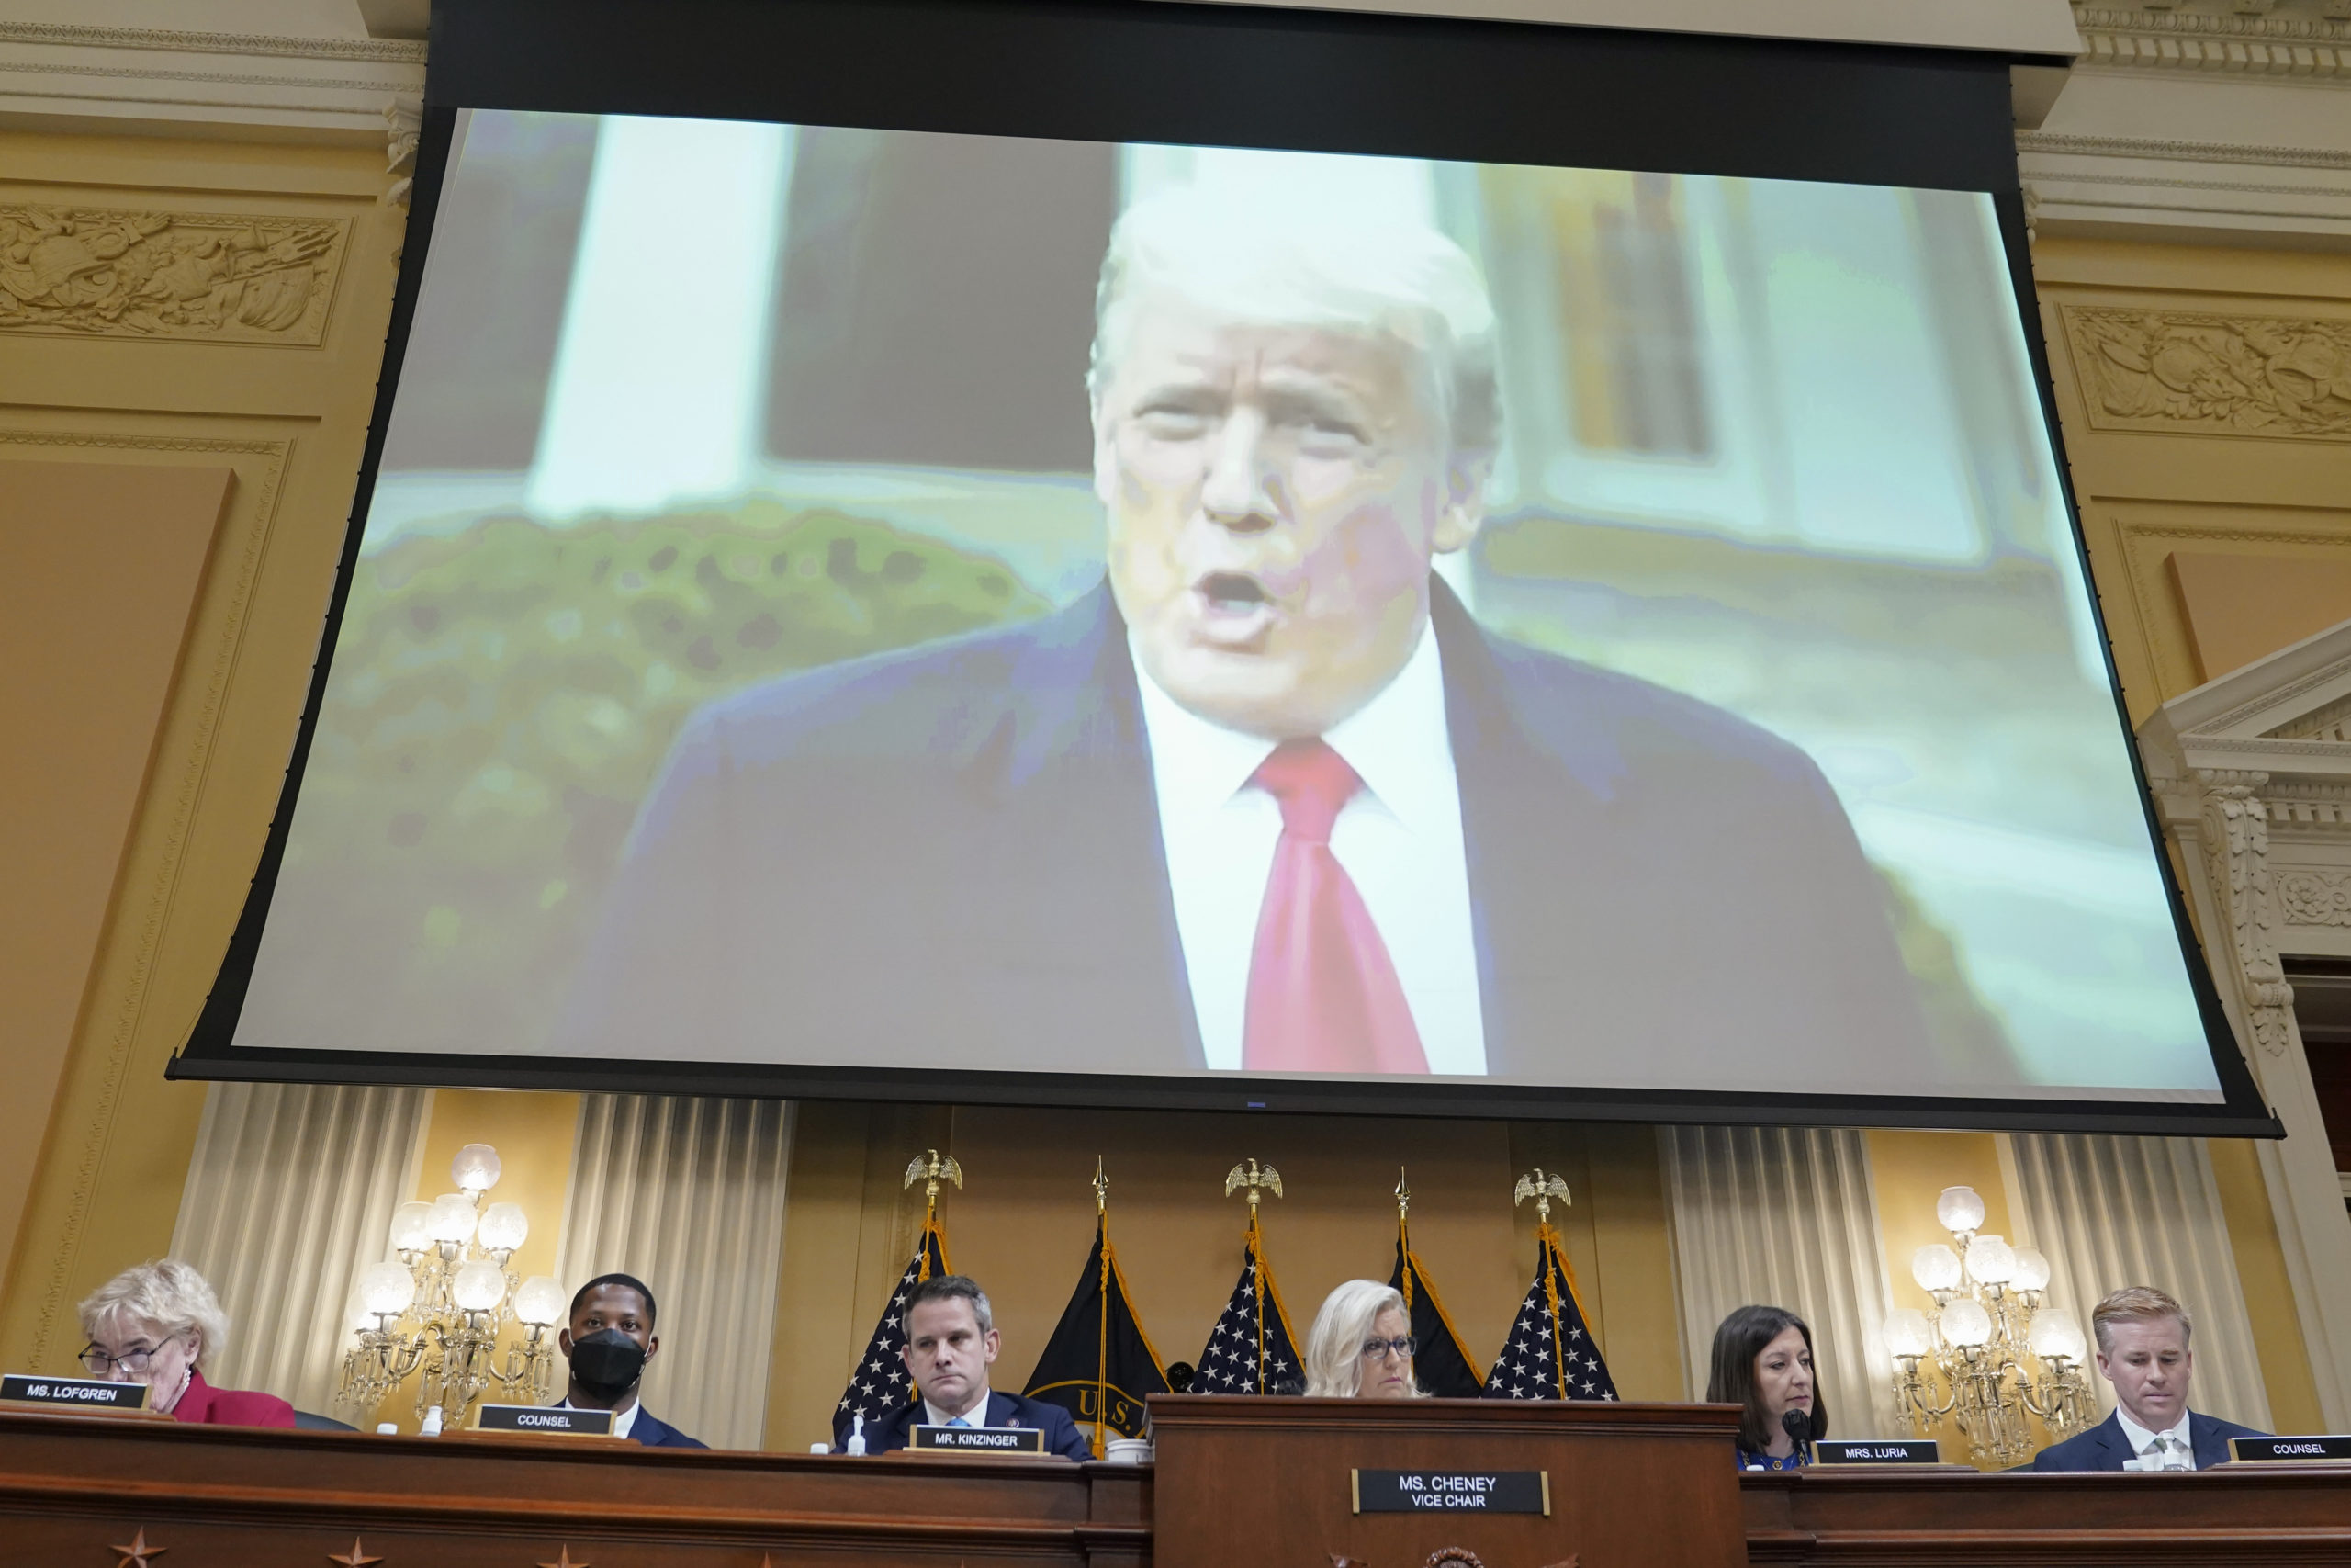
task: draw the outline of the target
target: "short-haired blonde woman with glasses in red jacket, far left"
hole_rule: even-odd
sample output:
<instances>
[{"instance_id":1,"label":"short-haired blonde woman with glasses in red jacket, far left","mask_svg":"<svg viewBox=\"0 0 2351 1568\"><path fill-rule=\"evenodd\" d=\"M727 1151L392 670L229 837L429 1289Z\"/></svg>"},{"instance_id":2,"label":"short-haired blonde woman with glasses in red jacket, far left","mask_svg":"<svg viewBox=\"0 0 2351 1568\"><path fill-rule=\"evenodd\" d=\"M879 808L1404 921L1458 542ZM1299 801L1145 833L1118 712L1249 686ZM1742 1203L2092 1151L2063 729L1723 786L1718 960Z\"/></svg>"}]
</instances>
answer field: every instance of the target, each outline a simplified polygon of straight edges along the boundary
<instances>
[{"instance_id":1,"label":"short-haired blonde woman with glasses in red jacket, far left","mask_svg":"<svg viewBox=\"0 0 2351 1568\"><path fill-rule=\"evenodd\" d=\"M148 1385L148 1408L216 1427L292 1427L275 1394L216 1389L197 1366L228 1345L228 1314L179 1258L122 1269L82 1302L82 1366L92 1378Z\"/></svg>"}]
</instances>

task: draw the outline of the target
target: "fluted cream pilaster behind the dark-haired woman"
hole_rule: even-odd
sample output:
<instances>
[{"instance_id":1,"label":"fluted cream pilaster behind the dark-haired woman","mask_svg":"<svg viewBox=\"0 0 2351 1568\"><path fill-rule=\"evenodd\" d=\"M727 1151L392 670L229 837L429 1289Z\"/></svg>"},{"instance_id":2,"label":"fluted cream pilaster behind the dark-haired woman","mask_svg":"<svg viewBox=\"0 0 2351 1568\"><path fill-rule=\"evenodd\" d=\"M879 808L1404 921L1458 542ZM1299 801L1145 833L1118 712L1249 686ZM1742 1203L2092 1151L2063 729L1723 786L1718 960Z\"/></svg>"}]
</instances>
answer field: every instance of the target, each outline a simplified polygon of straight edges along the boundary
<instances>
[{"instance_id":1,"label":"fluted cream pilaster behind the dark-haired woman","mask_svg":"<svg viewBox=\"0 0 2351 1568\"><path fill-rule=\"evenodd\" d=\"M1674 1126L1660 1140L1690 1399L1707 1392L1714 1328L1733 1307L1787 1307L1813 1328L1829 1432L1893 1436L1886 1258L1862 1135Z\"/></svg>"}]
</instances>

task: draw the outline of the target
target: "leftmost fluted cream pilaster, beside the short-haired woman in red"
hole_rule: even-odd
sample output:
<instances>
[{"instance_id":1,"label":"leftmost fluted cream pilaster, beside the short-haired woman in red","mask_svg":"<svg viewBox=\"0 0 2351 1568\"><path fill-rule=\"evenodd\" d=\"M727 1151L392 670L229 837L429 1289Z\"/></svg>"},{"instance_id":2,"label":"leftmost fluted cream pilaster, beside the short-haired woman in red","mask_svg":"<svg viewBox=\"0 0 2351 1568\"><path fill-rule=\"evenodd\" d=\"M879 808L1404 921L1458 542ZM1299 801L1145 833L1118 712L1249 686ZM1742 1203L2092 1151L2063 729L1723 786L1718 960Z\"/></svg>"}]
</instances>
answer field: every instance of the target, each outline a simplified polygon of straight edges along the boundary
<instances>
[{"instance_id":1,"label":"leftmost fluted cream pilaster, beside the short-haired woman in red","mask_svg":"<svg viewBox=\"0 0 2351 1568\"><path fill-rule=\"evenodd\" d=\"M172 1255L228 1312L228 1347L205 1356L205 1378L329 1410L353 1284L383 1260L393 1208L416 1182L430 1100L430 1088L212 1086L172 1227Z\"/></svg>"}]
</instances>

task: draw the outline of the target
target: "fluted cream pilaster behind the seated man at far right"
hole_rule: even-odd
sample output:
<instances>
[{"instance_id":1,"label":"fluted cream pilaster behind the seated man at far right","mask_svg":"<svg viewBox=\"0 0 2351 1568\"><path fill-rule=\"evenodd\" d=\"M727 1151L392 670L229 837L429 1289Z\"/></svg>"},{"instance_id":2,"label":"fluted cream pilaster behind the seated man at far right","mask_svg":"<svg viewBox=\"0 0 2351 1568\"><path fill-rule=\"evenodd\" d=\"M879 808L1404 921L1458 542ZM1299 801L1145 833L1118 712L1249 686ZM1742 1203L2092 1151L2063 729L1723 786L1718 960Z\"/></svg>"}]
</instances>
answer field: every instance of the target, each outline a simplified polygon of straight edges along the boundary
<instances>
[{"instance_id":1,"label":"fluted cream pilaster behind the seated man at far right","mask_svg":"<svg viewBox=\"0 0 2351 1568\"><path fill-rule=\"evenodd\" d=\"M2196 1319L2189 1403L2269 1429L2269 1389L2252 1345L2245 1286L2229 1248L2212 1157L2198 1138L2015 1133L2024 1234L2048 1253L2050 1302L2090 1333L2090 1307L2121 1286L2156 1286ZM2090 1371L2099 1410L2114 1385Z\"/></svg>"}]
</instances>

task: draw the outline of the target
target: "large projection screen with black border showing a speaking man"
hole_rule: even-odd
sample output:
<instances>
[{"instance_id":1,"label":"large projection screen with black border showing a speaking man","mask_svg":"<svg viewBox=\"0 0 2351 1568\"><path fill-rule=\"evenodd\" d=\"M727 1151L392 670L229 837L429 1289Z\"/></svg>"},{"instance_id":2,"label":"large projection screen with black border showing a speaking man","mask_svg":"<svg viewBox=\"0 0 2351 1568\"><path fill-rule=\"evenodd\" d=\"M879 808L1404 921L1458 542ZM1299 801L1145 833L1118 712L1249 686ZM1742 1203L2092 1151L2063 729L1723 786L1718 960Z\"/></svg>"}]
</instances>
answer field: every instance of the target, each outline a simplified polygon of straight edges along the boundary
<instances>
[{"instance_id":1,"label":"large projection screen with black border showing a speaking man","mask_svg":"<svg viewBox=\"0 0 2351 1568\"><path fill-rule=\"evenodd\" d=\"M444 9L320 682L179 1072L2266 1131L1996 63ZM501 66L534 21L571 52ZM703 21L799 68L677 75ZM1251 80L1183 101L1168 47ZM1284 49L1319 78L1265 108ZM1676 118L1791 73L1829 108Z\"/></svg>"}]
</instances>

